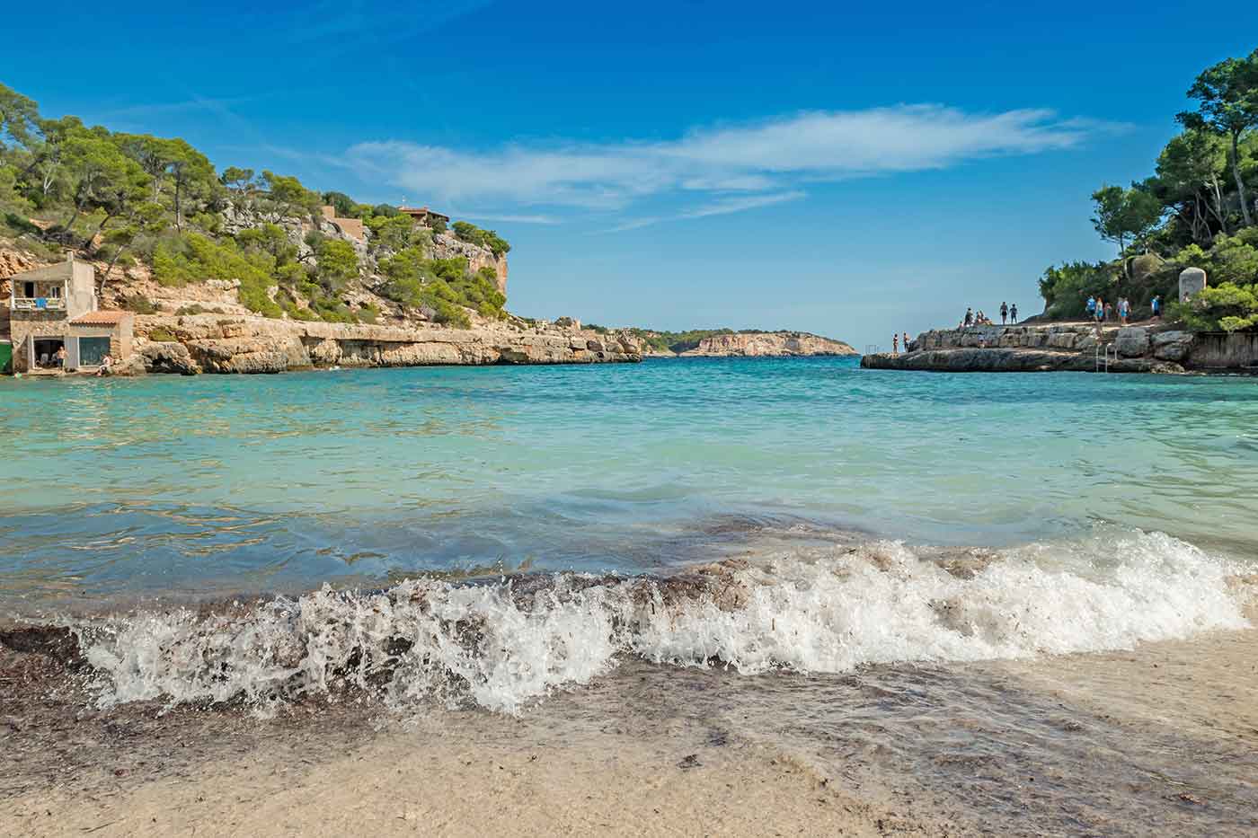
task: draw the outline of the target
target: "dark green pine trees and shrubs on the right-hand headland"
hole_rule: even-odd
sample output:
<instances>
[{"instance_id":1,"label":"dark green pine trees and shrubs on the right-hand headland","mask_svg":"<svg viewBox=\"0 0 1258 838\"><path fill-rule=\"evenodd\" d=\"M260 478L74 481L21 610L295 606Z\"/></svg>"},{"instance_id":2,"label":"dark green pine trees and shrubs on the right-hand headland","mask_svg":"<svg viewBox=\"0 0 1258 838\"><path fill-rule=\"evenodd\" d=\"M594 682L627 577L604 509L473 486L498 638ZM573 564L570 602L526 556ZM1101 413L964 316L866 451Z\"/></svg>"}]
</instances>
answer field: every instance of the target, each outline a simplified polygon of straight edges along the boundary
<instances>
[{"instance_id":1,"label":"dark green pine trees and shrubs on the right-hand headland","mask_svg":"<svg viewBox=\"0 0 1258 838\"><path fill-rule=\"evenodd\" d=\"M1188 98L1195 107L1176 115L1181 132L1154 174L1092 194L1092 224L1117 258L1045 269L1049 316L1082 316L1096 294L1175 301L1180 271L1196 267L1210 287L1170 313L1196 330L1258 328L1258 49L1204 69Z\"/></svg>"}]
</instances>

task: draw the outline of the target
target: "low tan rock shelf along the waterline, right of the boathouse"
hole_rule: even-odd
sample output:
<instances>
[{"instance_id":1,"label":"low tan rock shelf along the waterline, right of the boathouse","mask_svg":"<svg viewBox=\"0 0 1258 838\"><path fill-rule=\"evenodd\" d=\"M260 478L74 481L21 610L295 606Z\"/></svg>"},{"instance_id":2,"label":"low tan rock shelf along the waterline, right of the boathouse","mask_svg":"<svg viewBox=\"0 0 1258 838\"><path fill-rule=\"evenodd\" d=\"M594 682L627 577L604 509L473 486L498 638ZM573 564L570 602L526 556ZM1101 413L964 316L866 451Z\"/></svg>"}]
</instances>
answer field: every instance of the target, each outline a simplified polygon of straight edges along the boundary
<instances>
[{"instance_id":1,"label":"low tan rock shelf along the waterline, right of the boathouse","mask_svg":"<svg viewBox=\"0 0 1258 838\"><path fill-rule=\"evenodd\" d=\"M156 330L177 342L148 341ZM473 328L369 326L264 317L137 317L138 355L153 372L283 372L330 366L598 364L640 361L628 332L599 335L522 321ZM166 337L166 335L162 335Z\"/></svg>"}]
</instances>

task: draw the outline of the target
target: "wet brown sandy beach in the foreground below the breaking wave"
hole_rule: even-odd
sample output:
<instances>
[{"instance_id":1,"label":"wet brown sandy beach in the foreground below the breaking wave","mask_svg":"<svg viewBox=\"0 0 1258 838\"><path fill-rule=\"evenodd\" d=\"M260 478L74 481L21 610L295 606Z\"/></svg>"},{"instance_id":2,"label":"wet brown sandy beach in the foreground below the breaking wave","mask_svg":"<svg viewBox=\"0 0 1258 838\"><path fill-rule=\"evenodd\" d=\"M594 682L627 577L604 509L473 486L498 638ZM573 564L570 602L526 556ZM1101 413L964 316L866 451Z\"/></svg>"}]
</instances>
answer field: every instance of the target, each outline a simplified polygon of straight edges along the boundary
<instances>
[{"instance_id":1,"label":"wet brown sandy beach in the foreground below the breaking wave","mask_svg":"<svg viewBox=\"0 0 1258 838\"><path fill-rule=\"evenodd\" d=\"M89 710L0 649L0 834L1248 835L1258 630L844 676L625 661L518 717ZM364 703L360 703L362 701Z\"/></svg>"}]
</instances>

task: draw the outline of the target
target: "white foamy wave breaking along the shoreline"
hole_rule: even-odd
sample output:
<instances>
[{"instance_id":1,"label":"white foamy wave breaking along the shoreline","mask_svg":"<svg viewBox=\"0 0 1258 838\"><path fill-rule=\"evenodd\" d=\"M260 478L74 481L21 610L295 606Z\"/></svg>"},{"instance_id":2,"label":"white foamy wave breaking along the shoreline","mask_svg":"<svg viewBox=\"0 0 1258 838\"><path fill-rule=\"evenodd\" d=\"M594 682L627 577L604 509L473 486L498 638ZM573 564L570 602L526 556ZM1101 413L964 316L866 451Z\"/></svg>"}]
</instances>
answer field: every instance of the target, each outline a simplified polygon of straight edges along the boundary
<instances>
[{"instance_id":1,"label":"white foamy wave breaking along the shoreline","mask_svg":"<svg viewBox=\"0 0 1258 838\"><path fill-rule=\"evenodd\" d=\"M956 569L954 567L954 571ZM1238 569L1160 534L995 554L965 573L898 542L766 556L702 583L562 575L146 613L77 627L101 703L265 705L365 690L518 712L618 656L741 673L1130 648L1248 625Z\"/></svg>"}]
</instances>

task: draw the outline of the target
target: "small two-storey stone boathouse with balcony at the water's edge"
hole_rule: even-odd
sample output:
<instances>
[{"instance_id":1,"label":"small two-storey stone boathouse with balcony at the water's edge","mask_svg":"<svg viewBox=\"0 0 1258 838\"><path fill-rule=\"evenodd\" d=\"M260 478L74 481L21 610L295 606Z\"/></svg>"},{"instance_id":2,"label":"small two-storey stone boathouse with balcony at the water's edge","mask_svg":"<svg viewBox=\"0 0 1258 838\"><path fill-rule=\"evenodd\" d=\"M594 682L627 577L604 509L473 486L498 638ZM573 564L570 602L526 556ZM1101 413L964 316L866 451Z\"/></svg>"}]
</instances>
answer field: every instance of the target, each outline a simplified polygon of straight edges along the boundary
<instances>
[{"instance_id":1,"label":"small two-storey stone boathouse with balcony at the water's edge","mask_svg":"<svg viewBox=\"0 0 1258 838\"><path fill-rule=\"evenodd\" d=\"M96 271L70 254L65 262L14 274L9 340L14 372L94 371L104 356L131 356L133 316L101 311Z\"/></svg>"}]
</instances>

